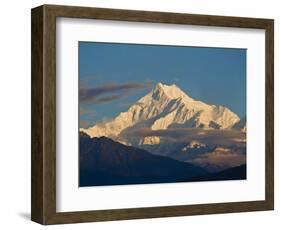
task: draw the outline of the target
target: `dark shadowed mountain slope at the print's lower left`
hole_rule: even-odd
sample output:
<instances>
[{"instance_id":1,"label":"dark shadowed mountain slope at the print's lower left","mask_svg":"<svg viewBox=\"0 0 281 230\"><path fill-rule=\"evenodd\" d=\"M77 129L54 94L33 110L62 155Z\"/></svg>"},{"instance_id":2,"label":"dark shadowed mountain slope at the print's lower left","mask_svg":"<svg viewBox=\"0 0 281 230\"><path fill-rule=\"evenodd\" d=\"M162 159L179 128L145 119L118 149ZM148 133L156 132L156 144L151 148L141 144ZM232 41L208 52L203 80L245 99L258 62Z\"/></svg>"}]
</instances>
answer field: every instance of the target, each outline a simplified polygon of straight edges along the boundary
<instances>
[{"instance_id":1,"label":"dark shadowed mountain slope at the print's lower left","mask_svg":"<svg viewBox=\"0 0 281 230\"><path fill-rule=\"evenodd\" d=\"M80 186L194 181L205 170L106 137L80 133Z\"/></svg>"}]
</instances>

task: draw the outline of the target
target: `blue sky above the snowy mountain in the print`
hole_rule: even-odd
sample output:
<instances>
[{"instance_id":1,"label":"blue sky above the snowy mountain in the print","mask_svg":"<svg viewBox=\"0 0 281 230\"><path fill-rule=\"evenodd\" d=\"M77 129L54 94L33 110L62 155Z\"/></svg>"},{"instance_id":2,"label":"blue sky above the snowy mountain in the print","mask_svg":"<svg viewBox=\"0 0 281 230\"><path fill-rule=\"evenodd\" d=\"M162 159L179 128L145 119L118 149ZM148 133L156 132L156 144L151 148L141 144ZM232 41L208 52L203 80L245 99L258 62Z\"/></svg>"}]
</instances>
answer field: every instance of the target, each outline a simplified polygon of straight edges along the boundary
<instances>
[{"instance_id":1,"label":"blue sky above the snowy mountain in the print","mask_svg":"<svg viewBox=\"0 0 281 230\"><path fill-rule=\"evenodd\" d=\"M79 42L80 127L126 111L158 82L246 115L245 49Z\"/></svg>"}]
</instances>

